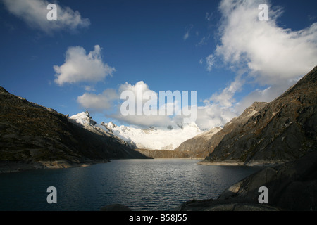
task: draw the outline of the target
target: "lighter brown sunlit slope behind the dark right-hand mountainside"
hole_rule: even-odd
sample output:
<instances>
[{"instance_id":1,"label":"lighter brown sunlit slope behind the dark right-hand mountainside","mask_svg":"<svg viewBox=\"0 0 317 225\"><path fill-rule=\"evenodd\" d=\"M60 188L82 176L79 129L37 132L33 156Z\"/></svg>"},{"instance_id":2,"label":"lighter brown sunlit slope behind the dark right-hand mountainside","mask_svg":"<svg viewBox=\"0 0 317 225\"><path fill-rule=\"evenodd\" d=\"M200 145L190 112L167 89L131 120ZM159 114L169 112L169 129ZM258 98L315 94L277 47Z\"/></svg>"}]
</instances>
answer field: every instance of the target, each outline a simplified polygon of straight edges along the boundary
<instances>
[{"instance_id":1,"label":"lighter brown sunlit slope behind the dark right-hand mountainside","mask_svg":"<svg viewBox=\"0 0 317 225\"><path fill-rule=\"evenodd\" d=\"M176 148L176 151L187 152L192 155L193 158L205 158L218 146L218 143L227 134L230 134L238 127L243 127L251 116L258 113L267 103L256 102L249 108L244 110L242 115L232 119L225 124L223 129L216 127L210 131L206 131L203 134L194 136L194 138L183 142L180 147Z\"/></svg>"}]
</instances>

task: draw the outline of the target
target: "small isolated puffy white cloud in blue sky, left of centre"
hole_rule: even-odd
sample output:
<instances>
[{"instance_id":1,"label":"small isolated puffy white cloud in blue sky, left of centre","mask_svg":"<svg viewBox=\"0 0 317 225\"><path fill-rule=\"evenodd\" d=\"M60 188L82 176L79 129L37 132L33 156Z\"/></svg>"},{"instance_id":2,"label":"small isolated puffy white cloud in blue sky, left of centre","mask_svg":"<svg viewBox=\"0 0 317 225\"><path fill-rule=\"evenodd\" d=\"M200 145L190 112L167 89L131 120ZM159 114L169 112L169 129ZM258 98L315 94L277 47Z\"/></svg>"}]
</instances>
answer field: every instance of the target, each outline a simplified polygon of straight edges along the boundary
<instances>
[{"instance_id":1,"label":"small isolated puffy white cloud in blue sky, left of centre","mask_svg":"<svg viewBox=\"0 0 317 225\"><path fill-rule=\"evenodd\" d=\"M54 65L54 70L55 82L60 86L66 83L99 82L116 71L102 61L99 45L94 46L94 51L88 54L81 46L69 47L65 63L61 66Z\"/></svg>"}]
</instances>

